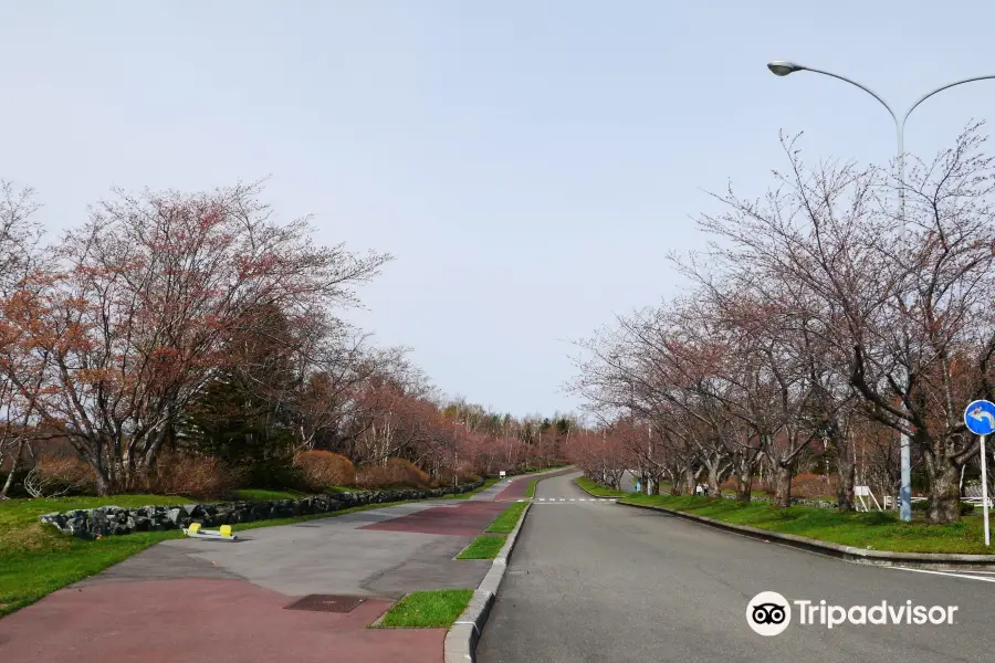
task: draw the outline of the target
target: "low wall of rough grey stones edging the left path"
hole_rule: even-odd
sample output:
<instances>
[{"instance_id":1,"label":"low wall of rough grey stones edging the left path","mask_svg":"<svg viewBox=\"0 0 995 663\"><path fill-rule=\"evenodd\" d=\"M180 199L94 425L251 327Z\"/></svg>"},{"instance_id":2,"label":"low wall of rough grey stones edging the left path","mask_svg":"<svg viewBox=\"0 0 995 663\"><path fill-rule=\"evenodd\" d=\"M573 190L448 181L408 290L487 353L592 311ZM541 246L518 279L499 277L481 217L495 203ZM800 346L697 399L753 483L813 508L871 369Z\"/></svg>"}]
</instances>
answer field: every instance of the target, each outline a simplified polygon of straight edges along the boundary
<instances>
[{"instance_id":1,"label":"low wall of rough grey stones edging the left path","mask_svg":"<svg viewBox=\"0 0 995 663\"><path fill-rule=\"evenodd\" d=\"M97 508L53 513L39 516L42 523L54 526L64 534L92 539L97 536L132 534L133 532L164 532L200 523L205 527L237 525L286 518L310 514L325 514L353 506L442 497L453 493L467 493L480 487L482 482L459 487L400 491L363 491L315 495L300 499L272 499L266 502L220 502L213 504L182 504L176 506L101 506Z\"/></svg>"}]
</instances>

